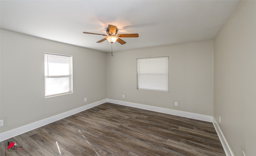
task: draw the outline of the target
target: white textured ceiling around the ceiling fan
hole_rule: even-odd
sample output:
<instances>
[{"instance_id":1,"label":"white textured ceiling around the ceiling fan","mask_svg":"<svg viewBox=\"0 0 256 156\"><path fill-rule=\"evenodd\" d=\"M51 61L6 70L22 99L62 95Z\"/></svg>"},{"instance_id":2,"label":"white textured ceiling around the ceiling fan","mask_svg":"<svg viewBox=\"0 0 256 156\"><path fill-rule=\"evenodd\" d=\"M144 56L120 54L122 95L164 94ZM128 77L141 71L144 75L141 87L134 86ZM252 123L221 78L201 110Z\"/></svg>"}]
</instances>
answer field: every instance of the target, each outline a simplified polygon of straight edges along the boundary
<instances>
[{"instance_id":1,"label":"white textured ceiling around the ceiling fan","mask_svg":"<svg viewBox=\"0 0 256 156\"><path fill-rule=\"evenodd\" d=\"M235 0L70 0L0 1L3 30L111 51L108 41L96 43L108 24L122 38L113 51L214 39L239 1Z\"/></svg>"}]
</instances>

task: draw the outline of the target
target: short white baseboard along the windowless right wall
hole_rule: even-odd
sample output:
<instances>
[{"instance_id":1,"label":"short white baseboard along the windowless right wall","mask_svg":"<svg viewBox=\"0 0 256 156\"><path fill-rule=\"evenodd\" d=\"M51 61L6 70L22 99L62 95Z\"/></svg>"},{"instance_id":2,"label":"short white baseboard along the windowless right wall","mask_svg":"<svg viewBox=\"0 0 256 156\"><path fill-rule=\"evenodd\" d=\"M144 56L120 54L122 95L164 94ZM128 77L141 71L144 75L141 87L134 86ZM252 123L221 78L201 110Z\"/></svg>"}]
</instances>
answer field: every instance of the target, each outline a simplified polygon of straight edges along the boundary
<instances>
[{"instance_id":1,"label":"short white baseboard along the windowless right wall","mask_svg":"<svg viewBox=\"0 0 256 156\"><path fill-rule=\"evenodd\" d=\"M234 153L232 152L230 146L228 145L228 142L224 136L224 134L222 133L220 126L218 125L218 123L216 122L215 118L213 117L213 126L218 134L218 137L220 138L220 142L222 144L222 147L226 153L226 156L234 156Z\"/></svg>"}]
</instances>

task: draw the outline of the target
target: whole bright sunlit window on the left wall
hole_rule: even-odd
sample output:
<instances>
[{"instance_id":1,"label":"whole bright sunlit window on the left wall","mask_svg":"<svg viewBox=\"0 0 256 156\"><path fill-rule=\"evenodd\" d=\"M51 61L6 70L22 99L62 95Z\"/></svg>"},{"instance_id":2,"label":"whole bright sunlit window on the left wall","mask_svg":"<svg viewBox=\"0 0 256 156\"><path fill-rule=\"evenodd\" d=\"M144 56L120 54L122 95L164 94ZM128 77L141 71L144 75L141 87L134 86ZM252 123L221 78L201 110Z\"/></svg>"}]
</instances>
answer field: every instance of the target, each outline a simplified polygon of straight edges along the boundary
<instances>
[{"instance_id":1,"label":"whole bright sunlit window on the left wall","mask_svg":"<svg viewBox=\"0 0 256 156\"><path fill-rule=\"evenodd\" d=\"M44 53L44 96L72 93L72 56Z\"/></svg>"}]
</instances>

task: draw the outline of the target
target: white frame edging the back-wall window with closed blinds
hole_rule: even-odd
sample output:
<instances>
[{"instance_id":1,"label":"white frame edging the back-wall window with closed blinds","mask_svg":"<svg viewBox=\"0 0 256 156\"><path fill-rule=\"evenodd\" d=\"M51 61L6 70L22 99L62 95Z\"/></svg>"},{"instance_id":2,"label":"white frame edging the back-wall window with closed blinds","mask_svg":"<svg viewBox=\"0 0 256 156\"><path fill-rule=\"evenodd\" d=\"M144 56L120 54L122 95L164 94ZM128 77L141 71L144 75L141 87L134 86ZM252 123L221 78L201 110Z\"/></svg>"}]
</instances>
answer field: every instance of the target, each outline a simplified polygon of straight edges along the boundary
<instances>
[{"instance_id":1,"label":"white frame edging the back-wall window with closed blinds","mask_svg":"<svg viewBox=\"0 0 256 156\"><path fill-rule=\"evenodd\" d=\"M167 90L160 90L160 89L144 89L144 88L139 88L139 65L138 65L138 60L140 59L157 59L157 58L167 58L168 59L168 83L167 83ZM168 93L169 92L169 56L162 56L162 57L146 57L146 58L137 58L136 59L136 63L137 63L137 90L146 90L146 91L159 91L159 92L165 92Z\"/></svg>"}]
</instances>

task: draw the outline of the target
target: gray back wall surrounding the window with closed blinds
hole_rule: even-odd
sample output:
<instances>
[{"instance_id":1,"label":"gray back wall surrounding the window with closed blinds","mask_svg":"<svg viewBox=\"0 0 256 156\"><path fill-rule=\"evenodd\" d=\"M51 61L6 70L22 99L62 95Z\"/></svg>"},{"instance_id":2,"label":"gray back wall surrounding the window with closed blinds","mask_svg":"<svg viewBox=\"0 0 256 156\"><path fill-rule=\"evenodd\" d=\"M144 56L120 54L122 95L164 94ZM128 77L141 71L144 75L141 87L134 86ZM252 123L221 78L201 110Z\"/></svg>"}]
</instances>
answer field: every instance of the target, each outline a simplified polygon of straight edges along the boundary
<instances>
[{"instance_id":1,"label":"gray back wall surrounding the window with closed blinds","mask_svg":"<svg viewBox=\"0 0 256 156\"><path fill-rule=\"evenodd\" d=\"M107 97L213 116L213 53L213 40L109 53ZM169 56L169 92L137 90L136 59L161 56Z\"/></svg>"}]
</instances>

